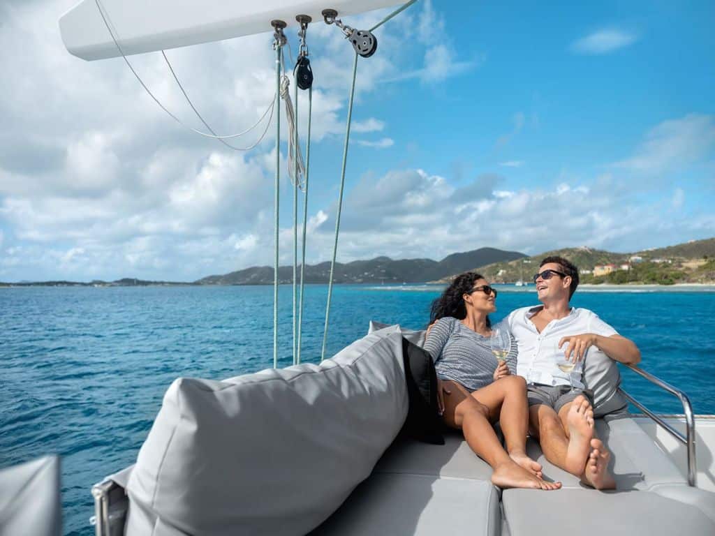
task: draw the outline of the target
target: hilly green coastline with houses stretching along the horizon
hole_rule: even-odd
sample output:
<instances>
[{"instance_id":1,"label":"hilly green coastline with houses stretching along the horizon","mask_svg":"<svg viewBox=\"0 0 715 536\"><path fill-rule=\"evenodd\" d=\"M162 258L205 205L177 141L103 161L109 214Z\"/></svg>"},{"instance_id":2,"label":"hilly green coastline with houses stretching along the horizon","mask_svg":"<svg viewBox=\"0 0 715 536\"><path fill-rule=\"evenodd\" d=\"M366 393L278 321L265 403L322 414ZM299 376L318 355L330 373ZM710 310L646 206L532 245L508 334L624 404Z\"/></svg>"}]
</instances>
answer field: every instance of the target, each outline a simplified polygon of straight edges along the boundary
<instances>
[{"instance_id":1,"label":"hilly green coastline with houses stretching along the horizon","mask_svg":"<svg viewBox=\"0 0 715 536\"><path fill-rule=\"evenodd\" d=\"M571 260L581 270L586 284L715 284L715 238L633 253L613 253L590 247L556 249L528 257L492 247L454 253L440 261L433 259L390 259L376 257L335 263L335 283L403 284L448 282L461 272L475 270L495 283L531 282L538 263L548 255ZM278 269L278 282L292 282L292 266ZM273 268L250 267L223 275L211 275L194 282L145 281L124 278L92 282L45 281L3 283L0 287L146 287L169 285L257 285L273 283ZM330 262L306 264L305 282L323 284L330 277Z\"/></svg>"}]
</instances>

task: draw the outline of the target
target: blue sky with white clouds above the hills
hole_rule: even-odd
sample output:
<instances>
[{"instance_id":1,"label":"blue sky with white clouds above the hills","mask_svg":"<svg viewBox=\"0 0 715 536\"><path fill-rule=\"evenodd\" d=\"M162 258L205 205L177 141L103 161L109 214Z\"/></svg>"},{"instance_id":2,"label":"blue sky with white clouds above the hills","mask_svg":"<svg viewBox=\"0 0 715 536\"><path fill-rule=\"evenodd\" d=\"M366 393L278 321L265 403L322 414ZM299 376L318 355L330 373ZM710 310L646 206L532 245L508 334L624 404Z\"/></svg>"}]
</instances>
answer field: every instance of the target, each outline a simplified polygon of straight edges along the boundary
<instances>
[{"instance_id":1,"label":"blue sky with white clouds above the hills","mask_svg":"<svg viewBox=\"0 0 715 536\"><path fill-rule=\"evenodd\" d=\"M250 152L184 129L121 58L66 51L57 21L74 4L0 0L0 281L193 281L272 265L275 126ZM375 32L378 51L358 62L339 262L635 252L715 236L715 4L592 4L420 0ZM368 28L389 11L344 22ZM332 257L352 48L322 22L307 39L312 264ZM272 101L270 33L166 54L220 134ZM129 59L203 129L160 52ZM306 112L302 93L304 150ZM285 109L281 124L290 264Z\"/></svg>"}]
</instances>

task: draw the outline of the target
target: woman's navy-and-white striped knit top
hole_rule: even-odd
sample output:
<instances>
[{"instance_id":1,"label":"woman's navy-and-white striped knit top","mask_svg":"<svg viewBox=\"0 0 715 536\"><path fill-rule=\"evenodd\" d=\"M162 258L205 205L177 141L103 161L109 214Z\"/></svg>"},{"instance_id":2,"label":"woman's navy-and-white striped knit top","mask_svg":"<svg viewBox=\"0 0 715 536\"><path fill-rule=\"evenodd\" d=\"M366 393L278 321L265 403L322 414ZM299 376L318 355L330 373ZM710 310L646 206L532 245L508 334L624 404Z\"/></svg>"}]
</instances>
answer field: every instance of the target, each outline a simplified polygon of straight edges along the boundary
<instances>
[{"instance_id":1,"label":"woman's navy-and-white striped knit top","mask_svg":"<svg viewBox=\"0 0 715 536\"><path fill-rule=\"evenodd\" d=\"M508 329L503 322L498 327ZM494 380L497 360L491 352L489 337L474 332L456 318L440 318L433 324L425 350L432 354L441 379L452 379L470 391L481 389ZM517 352L512 337L511 349L506 357L511 374L516 374Z\"/></svg>"}]
</instances>

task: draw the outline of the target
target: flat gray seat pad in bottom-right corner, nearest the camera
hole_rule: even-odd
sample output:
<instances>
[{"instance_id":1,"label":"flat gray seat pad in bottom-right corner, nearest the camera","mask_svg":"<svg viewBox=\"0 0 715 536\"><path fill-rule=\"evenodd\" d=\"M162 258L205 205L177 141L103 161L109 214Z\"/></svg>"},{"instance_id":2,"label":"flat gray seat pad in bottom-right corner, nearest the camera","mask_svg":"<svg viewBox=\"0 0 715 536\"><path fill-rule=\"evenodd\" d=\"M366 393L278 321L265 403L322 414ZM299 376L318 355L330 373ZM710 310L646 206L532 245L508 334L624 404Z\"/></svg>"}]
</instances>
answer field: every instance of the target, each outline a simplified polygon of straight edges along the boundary
<instances>
[{"instance_id":1,"label":"flat gray seat pad in bottom-right corner, nearest the camera","mask_svg":"<svg viewBox=\"0 0 715 536\"><path fill-rule=\"evenodd\" d=\"M505 490L502 500L511 536L715 534L701 510L654 492Z\"/></svg>"}]
</instances>

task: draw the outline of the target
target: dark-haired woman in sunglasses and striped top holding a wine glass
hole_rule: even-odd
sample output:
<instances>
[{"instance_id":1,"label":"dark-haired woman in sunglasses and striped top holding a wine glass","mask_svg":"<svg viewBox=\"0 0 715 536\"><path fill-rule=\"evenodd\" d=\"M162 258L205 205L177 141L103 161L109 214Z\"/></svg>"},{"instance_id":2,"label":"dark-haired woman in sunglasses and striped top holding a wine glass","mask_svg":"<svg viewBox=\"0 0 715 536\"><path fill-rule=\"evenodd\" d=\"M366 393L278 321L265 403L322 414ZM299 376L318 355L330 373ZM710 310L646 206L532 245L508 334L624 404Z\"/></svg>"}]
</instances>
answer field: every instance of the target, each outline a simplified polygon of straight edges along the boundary
<instances>
[{"instance_id":1,"label":"dark-haired woman in sunglasses and striped top holding a wine glass","mask_svg":"<svg viewBox=\"0 0 715 536\"><path fill-rule=\"evenodd\" d=\"M496 290L480 274L466 272L432 304L425 349L435 359L440 412L492 467L493 484L556 490L561 482L543 480L541 465L526 455L526 382L511 375L506 363L497 366L490 350L488 314L496 310L495 298ZM512 348L513 361L516 344ZM497 421L506 451L492 427Z\"/></svg>"}]
</instances>

